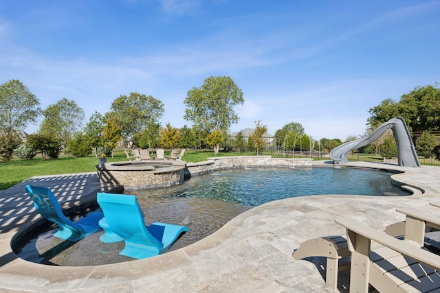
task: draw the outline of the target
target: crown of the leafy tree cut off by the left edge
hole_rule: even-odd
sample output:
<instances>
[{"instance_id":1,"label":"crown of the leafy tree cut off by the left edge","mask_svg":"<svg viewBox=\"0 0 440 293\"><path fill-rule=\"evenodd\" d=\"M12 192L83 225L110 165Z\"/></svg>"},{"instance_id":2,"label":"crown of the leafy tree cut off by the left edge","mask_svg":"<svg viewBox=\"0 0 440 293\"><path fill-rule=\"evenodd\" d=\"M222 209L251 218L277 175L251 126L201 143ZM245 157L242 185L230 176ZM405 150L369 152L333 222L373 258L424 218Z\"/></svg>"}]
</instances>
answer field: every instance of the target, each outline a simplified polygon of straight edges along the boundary
<instances>
[{"instance_id":1,"label":"crown of the leafy tree cut off by the left edge","mask_svg":"<svg viewBox=\"0 0 440 293\"><path fill-rule=\"evenodd\" d=\"M0 85L1 132L10 134L36 123L40 113L40 100L30 93L19 80Z\"/></svg>"}]
</instances>

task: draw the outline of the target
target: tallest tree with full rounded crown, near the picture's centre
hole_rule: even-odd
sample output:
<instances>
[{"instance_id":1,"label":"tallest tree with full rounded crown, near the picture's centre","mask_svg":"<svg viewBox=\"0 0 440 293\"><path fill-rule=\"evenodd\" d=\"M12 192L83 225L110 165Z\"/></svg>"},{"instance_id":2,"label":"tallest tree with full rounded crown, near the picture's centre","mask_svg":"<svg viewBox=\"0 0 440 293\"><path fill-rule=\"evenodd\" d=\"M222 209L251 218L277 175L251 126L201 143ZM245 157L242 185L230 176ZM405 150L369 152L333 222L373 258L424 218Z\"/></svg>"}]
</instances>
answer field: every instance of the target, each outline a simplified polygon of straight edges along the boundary
<instances>
[{"instance_id":1,"label":"tallest tree with full rounded crown, near the picture's centre","mask_svg":"<svg viewBox=\"0 0 440 293\"><path fill-rule=\"evenodd\" d=\"M232 78L211 76L203 81L200 88L193 87L188 91L184 100L184 119L192 121L201 133L221 130L226 134L231 124L239 121L234 106L243 102L243 93Z\"/></svg>"}]
</instances>

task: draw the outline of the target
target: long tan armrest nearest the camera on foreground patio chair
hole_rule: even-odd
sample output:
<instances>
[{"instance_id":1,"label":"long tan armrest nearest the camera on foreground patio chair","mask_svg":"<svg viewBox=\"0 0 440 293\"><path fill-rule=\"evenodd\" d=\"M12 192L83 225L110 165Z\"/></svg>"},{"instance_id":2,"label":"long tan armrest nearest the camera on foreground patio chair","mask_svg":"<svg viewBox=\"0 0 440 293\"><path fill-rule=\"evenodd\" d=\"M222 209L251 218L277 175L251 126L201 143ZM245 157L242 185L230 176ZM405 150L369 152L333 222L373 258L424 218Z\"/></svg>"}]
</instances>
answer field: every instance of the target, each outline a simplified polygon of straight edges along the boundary
<instances>
[{"instance_id":1,"label":"long tan armrest nearest the camera on foreground patio chair","mask_svg":"<svg viewBox=\"0 0 440 293\"><path fill-rule=\"evenodd\" d=\"M401 253L402 255L415 259L434 270L440 270L439 255L435 255L427 250L417 248L417 246L408 244L407 242L401 241L390 235L386 235L386 233L382 231L371 228L370 226L351 218L340 218L336 219L335 222L347 228L347 243L351 253L355 251L357 235L361 235L362 237L370 239L370 241L377 242Z\"/></svg>"}]
</instances>

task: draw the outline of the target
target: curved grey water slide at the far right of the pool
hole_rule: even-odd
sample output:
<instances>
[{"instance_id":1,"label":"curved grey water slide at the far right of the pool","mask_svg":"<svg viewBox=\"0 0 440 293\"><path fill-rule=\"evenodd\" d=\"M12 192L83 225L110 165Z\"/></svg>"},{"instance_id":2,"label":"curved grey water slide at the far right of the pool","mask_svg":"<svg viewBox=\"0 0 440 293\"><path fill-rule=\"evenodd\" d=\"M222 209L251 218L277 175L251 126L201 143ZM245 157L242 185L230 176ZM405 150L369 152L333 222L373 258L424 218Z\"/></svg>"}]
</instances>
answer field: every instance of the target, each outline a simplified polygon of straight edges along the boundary
<instances>
[{"instance_id":1,"label":"curved grey water slide at the far right of the pool","mask_svg":"<svg viewBox=\"0 0 440 293\"><path fill-rule=\"evenodd\" d=\"M349 163L349 154L351 151L376 141L390 128L393 130L397 145L397 161L399 166L420 167L414 143L412 143L410 132L402 117L395 117L386 121L365 137L361 137L355 141L349 141L348 143L342 143L342 145L331 150L330 158L334 164Z\"/></svg>"}]
</instances>

